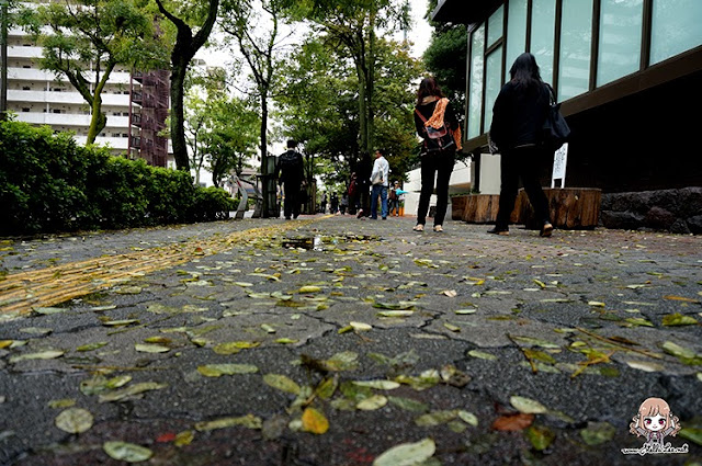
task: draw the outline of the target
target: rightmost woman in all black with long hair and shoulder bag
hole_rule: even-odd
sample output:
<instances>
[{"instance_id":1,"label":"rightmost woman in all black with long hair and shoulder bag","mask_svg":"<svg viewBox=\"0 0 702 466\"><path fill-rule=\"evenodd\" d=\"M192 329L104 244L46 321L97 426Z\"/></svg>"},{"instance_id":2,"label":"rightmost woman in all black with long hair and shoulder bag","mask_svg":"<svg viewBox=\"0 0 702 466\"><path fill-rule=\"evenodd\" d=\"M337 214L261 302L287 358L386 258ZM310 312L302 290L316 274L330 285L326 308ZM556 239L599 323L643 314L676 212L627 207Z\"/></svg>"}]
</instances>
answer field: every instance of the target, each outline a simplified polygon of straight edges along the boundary
<instances>
[{"instance_id":1,"label":"rightmost woman in all black with long hair and shoulder bag","mask_svg":"<svg viewBox=\"0 0 702 466\"><path fill-rule=\"evenodd\" d=\"M509 235L509 217L514 209L519 179L529 202L541 221L542 237L553 231L548 200L539 182L540 161L545 159L539 146L541 127L550 104L550 89L541 80L539 65L532 54L517 57L509 70L510 81L502 86L492 106L490 138L500 152L500 204L494 235Z\"/></svg>"}]
</instances>

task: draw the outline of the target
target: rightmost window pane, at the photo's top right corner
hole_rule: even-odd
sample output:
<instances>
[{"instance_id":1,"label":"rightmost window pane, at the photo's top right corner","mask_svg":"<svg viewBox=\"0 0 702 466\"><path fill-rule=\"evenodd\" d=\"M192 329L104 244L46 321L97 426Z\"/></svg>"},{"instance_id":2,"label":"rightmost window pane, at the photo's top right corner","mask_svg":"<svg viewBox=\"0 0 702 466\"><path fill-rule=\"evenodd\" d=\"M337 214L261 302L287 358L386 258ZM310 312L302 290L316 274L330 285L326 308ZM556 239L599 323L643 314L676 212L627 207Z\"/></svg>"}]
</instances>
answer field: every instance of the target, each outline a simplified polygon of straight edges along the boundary
<instances>
[{"instance_id":1,"label":"rightmost window pane, at the photo's top right corner","mask_svg":"<svg viewBox=\"0 0 702 466\"><path fill-rule=\"evenodd\" d=\"M654 0L650 65L702 45L702 1Z\"/></svg>"}]
</instances>

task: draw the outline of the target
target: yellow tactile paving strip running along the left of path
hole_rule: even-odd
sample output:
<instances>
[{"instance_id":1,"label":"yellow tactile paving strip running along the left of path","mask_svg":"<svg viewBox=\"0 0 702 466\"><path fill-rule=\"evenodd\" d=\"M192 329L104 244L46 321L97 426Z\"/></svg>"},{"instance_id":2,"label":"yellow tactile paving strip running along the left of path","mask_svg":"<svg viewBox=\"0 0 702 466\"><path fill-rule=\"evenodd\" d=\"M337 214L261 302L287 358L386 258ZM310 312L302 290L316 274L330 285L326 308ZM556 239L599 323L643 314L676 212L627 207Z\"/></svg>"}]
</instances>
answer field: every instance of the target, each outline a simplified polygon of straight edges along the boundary
<instances>
[{"instance_id":1,"label":"yellow tactile paving strip running along the left of path","mask_svg":"<svg viewBox=\"0 0 702 466\"><path fill-rule=\"evenodd\" d=\"M0 281L0 314L27 314L34 308L55 306L68 299L110 288L135 276L226 251L241 240L279 235L313 221L315 219L285 221L226 236L9 274L5 280Z\"/></svg>"}]
</instances>

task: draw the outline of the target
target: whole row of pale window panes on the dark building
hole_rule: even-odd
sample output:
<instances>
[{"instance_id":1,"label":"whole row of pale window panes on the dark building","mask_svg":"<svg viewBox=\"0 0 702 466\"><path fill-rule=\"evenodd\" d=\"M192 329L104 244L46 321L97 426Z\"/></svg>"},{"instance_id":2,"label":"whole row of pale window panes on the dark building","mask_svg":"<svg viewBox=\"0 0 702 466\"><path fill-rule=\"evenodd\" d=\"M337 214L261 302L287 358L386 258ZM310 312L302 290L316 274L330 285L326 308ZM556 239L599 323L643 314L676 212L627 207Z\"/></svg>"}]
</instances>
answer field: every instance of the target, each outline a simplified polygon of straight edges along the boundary
<instances>
[{"instance_id":1,"label":"whole row of pale window panes on the dark building","mask_svg":"<svg viewBox=\"0 0 702 466\"><path fill-rule=\"evenodd\" d=\"M595 31L595 0L506 0L469 36L467 138L489 129L500 83L510 79L509 69L523 52L534 54L544 81L557 81L559 101L641 71L646 4L645 0L600 0ZM702 0L652 0L650 7L648 66L702 46ZM502 45L490 49L500 38ZM598 41L596 57L591 56L593 39ZM595 76L592 65L597 65Z\"/></svg>"}]
</instances>

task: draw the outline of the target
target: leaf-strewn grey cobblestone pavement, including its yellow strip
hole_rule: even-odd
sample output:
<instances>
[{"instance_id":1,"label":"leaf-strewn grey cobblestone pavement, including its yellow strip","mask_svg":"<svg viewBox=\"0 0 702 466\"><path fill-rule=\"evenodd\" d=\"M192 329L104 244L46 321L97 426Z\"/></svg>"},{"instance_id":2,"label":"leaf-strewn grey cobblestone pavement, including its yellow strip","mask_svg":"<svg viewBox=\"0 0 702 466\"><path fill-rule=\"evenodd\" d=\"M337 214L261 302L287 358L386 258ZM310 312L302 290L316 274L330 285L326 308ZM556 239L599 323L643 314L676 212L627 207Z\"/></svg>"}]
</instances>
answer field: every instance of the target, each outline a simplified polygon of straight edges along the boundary
<instances>
[{"instance_id":1,"label":"leaf-strewn grey cobblestone pavement, including its yellow strip","mask_svg":"<svg viewBox=\"0 0 702 466\"><path fill-rule=\"evenodd\" d=\"M702 464L702 238L412 226L0 241L0 464Z\"/></svg>"}]
</instances>

